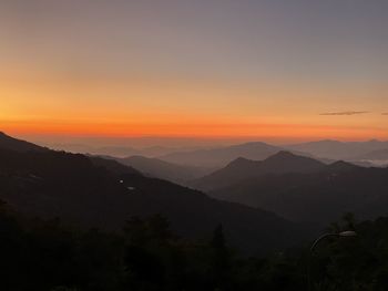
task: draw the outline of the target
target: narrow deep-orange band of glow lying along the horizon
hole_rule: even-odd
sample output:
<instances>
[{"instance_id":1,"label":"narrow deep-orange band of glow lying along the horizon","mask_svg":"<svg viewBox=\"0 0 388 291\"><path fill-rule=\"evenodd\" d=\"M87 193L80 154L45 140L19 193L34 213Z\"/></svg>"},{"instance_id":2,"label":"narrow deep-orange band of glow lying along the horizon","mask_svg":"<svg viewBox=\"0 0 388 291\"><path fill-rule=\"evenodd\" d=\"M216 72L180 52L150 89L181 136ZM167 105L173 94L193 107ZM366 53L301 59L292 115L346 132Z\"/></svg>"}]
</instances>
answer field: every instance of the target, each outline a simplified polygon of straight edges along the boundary
<instances>
[{"instance_id":1,"label":"narrow deep-orange band of glow lying along the horizon","mask_svg":"<svg viewBox=\"0 0 388 291\"><path fill-rule=\"evenodd\" d=\"M0 122L1 131L18 135L99 136L99 137L188 137L188 138L337 138L360 141L388 139L384 128L265 124L265 123L61 123L61 122Z\"/></svg>"}]
</instances>

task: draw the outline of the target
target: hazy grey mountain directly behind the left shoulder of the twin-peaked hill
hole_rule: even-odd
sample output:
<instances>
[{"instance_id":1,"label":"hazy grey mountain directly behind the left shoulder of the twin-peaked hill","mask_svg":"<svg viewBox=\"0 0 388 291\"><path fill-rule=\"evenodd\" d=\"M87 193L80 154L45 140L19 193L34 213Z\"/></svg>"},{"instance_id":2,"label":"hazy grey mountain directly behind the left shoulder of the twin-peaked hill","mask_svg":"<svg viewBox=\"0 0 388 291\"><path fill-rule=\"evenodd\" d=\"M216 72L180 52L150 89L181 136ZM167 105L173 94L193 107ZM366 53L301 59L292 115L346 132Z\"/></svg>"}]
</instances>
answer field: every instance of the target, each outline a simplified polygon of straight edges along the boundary
<instances>
[{"instance_id":1,"label":"hazy grey mountain directly behind the left shoulder of the twin-peaked hill","mask_svg":"<svg viewBox=\"0 0 388 291\"><path fill-rule=\"evenodd\" d=\"M277 146L255 142L213 149L178 152L161 156L160 159L180 165L221 168L238 157L259 160L279 150L282 148Z\"/></svg>"}]
</instances>

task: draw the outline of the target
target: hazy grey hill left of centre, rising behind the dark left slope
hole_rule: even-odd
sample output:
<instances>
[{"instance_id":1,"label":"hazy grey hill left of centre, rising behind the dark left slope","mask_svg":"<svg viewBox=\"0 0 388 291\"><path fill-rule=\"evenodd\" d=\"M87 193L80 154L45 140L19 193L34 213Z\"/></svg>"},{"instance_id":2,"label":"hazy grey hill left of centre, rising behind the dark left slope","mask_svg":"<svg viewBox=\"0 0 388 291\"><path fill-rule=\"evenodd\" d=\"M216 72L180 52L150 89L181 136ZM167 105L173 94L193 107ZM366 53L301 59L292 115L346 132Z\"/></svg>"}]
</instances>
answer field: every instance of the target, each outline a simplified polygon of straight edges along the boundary
<instances>
[{"instance_id":1,"label":"hazy grey hill left of centre, rising behind the dark left slope","mask_svg":"<svg viewBox=\"0 0 388 291\"><path fill-rule=\"evenodd\" d=\"M203 167L176 165L162 159L143 156L116 158L115 160L126 166L134 167L144 175L174 183L185 183L202 177L212 170Z\"/></svg>"}]
</instances>

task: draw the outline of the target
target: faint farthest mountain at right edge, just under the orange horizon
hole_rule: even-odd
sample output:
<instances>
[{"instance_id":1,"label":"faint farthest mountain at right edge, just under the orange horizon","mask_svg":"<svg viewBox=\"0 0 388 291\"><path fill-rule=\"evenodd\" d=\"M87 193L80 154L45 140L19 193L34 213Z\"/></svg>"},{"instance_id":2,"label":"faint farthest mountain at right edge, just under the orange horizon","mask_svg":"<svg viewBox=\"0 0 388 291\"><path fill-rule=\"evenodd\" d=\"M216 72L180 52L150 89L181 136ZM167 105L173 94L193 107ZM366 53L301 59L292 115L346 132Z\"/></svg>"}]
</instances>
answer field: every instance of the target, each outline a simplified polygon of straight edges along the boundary
<instances>
[{"instance_id":1,"label":"faint farthest mountain at right edge, just under the orange horizon","mask_svg":"<svg viewBox=\"0 0 388 291\"><path fill-rule=\"evenodd\" d=\"M284 147L290 150L308 153L320 158L354 160L357 156L361 156L374 150L387 149L388 142L375 139L368 142L338 142L327 139L288 145Z\"/></svg>"}]
</instances>

